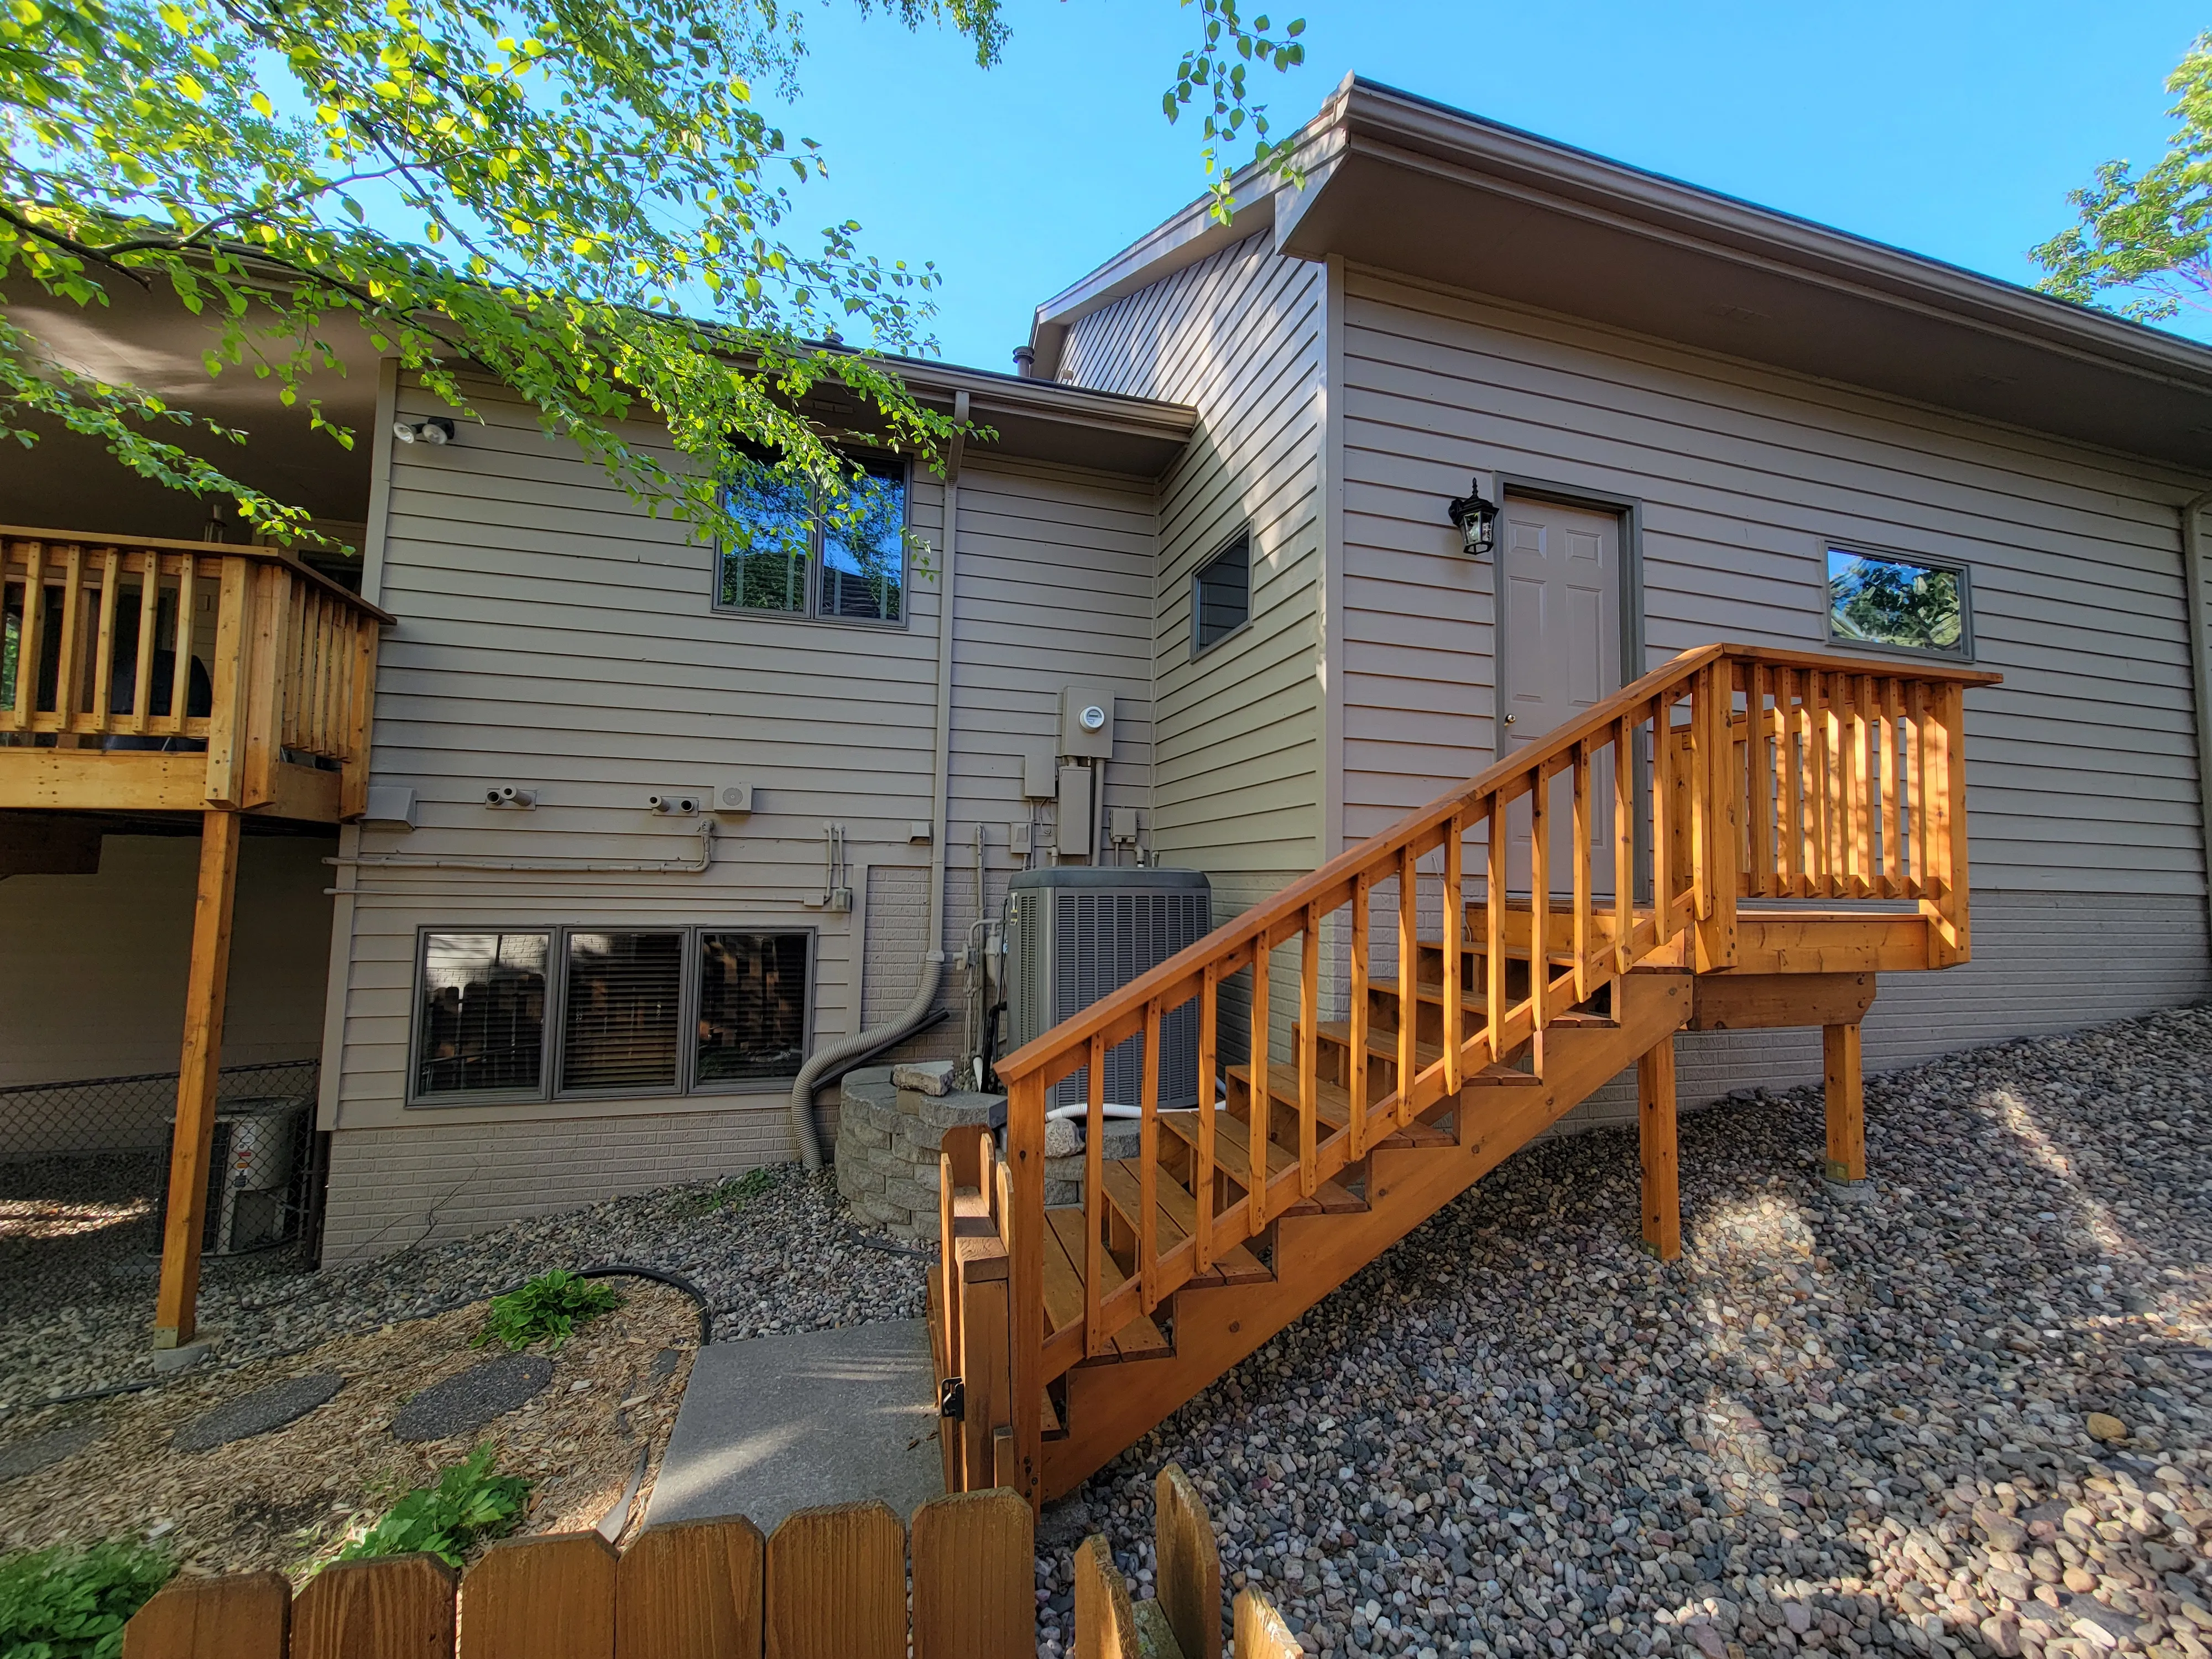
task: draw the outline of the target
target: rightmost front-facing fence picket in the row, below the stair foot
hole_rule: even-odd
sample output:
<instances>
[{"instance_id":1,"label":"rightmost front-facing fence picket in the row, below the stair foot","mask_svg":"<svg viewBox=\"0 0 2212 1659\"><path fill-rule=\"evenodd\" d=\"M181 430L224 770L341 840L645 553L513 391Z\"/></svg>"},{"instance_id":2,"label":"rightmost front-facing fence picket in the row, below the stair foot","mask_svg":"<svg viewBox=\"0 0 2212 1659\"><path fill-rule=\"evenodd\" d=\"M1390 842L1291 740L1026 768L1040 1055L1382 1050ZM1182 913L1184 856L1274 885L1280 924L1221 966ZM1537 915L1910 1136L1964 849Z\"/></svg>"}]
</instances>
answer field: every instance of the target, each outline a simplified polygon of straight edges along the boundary
<instances>
[{"instance_id":1,"label":"rightmost front-facing fence picket in the row, below the stair foot","mask_svg":"<svg viewBox=\"0 0 2212 1659\"><path fill-rule=\"evenodd\" d=\"M914 1659L1035 1659L1037 1524L1009 1486L914 1511Z\"/></svg>"}]
</instances>

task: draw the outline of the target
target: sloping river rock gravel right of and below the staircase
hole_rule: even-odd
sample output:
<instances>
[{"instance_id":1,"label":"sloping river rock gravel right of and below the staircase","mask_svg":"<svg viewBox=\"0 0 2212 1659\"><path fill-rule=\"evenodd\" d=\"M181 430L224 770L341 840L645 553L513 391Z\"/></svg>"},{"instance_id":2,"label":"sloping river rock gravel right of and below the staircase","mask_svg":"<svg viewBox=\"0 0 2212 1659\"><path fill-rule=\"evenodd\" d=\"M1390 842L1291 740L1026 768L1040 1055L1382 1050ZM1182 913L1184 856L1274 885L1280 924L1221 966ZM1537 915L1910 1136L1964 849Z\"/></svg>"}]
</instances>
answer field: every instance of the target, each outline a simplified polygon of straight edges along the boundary
<instances>
[{"instance_id":1,"label":"sloping river rock gravel right of and below the staircase","mask_svg":"<svg viewBox=\"0 0 2212 1659\"><path fill-rule=\"evenodd\" d=\"M1869 1077L1871 1192L1730 1099L1672 1265L1632 1135L1531 1148L1046 1511L1044 1652L1177 1460L1310 1652L2203 1659L2208 1091L2205 1009Z\"/></svg>"}]
</instances>

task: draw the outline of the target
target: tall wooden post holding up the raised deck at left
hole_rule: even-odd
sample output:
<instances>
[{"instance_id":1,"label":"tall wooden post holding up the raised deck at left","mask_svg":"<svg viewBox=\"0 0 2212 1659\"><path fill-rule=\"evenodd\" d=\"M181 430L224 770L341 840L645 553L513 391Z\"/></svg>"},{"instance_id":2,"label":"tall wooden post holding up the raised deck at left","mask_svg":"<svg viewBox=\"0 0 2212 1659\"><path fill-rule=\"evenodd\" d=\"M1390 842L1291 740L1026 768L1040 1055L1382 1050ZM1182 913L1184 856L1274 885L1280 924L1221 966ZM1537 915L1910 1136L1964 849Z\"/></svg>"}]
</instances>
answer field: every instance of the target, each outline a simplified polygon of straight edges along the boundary
<instances>
[{"instance_id":1,"label":"tall wooden post holding up the raised deck at left","mask_svg":"<svg viewBox=\"0 0 2212 1659\"><path fill-rule=\"evenodd\" d=\"M199 821L199 894L192 900L192 969L184 991L184 1057L177 1068L177 1135L168 1155L168 1225L153 1345L184 1347L199 1303L199 1234L208 1223L215 1152L215 1084L223 1066L223 995L230 987L230 909L239 889L239 814Z\"/></svg>"}]
</instances>

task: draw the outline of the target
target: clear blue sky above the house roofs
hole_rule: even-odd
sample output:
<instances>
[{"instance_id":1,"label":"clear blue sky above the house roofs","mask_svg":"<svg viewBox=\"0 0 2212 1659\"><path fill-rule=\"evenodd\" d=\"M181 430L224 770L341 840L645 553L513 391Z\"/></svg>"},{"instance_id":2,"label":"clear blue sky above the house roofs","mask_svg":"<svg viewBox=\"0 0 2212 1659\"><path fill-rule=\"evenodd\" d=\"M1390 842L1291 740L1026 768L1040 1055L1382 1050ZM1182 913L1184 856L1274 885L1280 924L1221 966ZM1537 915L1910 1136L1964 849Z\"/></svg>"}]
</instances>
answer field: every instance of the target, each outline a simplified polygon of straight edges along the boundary
<instances>
[{"instance_id":1,"label":"clear blue sky above the house roofs","mask_svg":"<svg viewBox=\"0 0 2212 1659\"><path fill-rule=\"evenodd\" d=\"M1009 0L984 73L949 33L847 0L807 13L787 122L827 181L801 223L852 217L931 259L945 356L1002 369L1035 303L1201 190L1199 135L1159 95L1194 29L1175 0ZM2112 155L2166 153L2168 71L2201 4L1310 0L1307 62L1265 86L1279 131L1358 71L1635 166L2011 281ZM2212 330L2192 325L2192 334Z\"/></svg>"}]
</instances>

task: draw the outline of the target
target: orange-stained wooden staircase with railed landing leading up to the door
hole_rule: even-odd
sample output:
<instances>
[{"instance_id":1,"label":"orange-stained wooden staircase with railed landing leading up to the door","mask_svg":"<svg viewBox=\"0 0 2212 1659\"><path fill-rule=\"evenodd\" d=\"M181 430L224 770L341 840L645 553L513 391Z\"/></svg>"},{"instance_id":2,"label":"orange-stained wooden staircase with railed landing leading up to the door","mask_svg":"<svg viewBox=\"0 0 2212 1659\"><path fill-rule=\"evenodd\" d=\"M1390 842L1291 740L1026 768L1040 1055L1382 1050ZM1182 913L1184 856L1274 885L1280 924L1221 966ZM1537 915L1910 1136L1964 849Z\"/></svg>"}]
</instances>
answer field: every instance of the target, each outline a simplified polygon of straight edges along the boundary
<instances>
[{"instance_id":1,"label":"orange-stained wooden staircase with railed landing leading up to the door","mask_svg":"<svg viewBox=\"0 0 2212 1659\"><path fill-rule=\"evenodd\" d=\"M1964 690L1997 679L1898 668L1686 653L1002 1060L1004 1155L956 1130L940 1168L947 1489L1066 1493L1630 1066L1672 1256L1679 1029L1823 1026L1829 1177L1863 1179L1858 1022L1878 973L1969 956ZM1190 1002L1219 1099L1161 1110ZM1073 1073L1084 1201L1046 1210Z\"/></svg>"}]
</instances>

